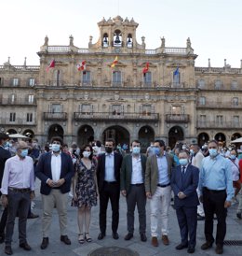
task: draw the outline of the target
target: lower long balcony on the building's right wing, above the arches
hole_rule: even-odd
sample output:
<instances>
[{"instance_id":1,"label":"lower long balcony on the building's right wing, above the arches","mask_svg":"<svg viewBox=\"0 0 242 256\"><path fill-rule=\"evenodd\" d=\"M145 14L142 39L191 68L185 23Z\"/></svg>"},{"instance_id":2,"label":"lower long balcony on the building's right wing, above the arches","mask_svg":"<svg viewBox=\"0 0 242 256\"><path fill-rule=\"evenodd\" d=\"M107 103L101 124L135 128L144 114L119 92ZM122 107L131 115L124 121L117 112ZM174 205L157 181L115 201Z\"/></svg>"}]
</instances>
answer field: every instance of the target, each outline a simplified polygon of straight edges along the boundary
<instances>
[{"instance_id":1,"label":"lower long balcony on the building's right wing, above the arches","mask_svg":"<svg viewBox=\"0 0 242 256\"><path fill-rule=\"evenodd\" d=\"M234 121L197 121L197 129L238 129L241 130L242 122Z\"/></svg>"}]
</instances>

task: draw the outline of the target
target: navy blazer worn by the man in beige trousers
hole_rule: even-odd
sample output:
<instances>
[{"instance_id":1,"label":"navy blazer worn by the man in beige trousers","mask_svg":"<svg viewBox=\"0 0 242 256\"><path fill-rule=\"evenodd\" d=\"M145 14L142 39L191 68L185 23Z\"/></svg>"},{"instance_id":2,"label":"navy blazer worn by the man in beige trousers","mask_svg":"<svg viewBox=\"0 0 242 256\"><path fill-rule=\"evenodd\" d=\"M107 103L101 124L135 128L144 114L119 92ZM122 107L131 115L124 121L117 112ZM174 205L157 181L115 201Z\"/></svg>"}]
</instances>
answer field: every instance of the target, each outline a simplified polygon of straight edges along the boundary
<instances>
[{"instance_id":1,"label":"navy blazer worn by the man in beige trousers","mask_svg":"<svg viewBox=\"0 0 242 256\"><path fill-rule=\"evenodd\" d=\"M44 153L40 156L39 162L36 166L35 175L41 180L40 192L49 194L51 187L47 185L47 179L52 179L51 173L51 157L52 152ZM61 177L65 182L61 185L62 193L70 192L72 178L74 176L74 164L70 155L61 152Z\"/></svg>"}]
</instances>

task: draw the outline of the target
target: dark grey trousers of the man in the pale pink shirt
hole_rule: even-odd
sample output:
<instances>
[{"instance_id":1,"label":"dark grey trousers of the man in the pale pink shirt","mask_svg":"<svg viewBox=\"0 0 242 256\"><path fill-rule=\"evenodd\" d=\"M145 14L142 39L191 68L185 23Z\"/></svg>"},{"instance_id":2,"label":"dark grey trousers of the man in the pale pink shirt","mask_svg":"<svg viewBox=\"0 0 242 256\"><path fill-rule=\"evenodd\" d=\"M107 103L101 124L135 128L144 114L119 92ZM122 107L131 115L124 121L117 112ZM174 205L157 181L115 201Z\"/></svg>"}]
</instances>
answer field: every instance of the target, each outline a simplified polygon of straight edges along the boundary
<instances>
[{"instance_id":1,"label":"dark grey trousers of the man in the pale pink shirt","mask_svg":"<svg viewBox=\"0 0 242 256\"><path fill-rule=\"evenodd\" d=\"M11 245L12 235L14 231L14 222L17 213L19 212L19 239L20 244L26 242L26 225L27 216L30 206L30 192L12 192L8 191L8 215L6 225L6 238L7 246Z\"/></svg>"}]
</instances>

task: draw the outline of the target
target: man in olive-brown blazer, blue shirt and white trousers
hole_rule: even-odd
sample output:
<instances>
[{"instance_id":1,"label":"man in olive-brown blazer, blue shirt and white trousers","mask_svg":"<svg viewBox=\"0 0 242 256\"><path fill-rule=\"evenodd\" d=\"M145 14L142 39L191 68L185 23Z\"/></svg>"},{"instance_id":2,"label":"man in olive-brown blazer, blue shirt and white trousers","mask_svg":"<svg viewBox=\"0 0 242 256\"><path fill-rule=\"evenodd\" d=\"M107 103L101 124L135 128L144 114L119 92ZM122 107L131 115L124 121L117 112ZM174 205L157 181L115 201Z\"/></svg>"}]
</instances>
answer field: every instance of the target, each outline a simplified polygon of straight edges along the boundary
<instances>
[{"instance_id":1,"label":"man in olive-brown blazer, blue shirt and white trousers","mask_svg":"<svg viewBox=\"0 0 242 256\"><path fill-rule=\"evenodd\" d=\"M158 212L161 212L161 233L164 245L169 244L168 240L168 208L170 205L171 169L175 166L174 159L165 151L165 142L155 140L155 154L148 157L145 171L145 192L150 199L151 206L151 235L152 245L158 246L157 226ZM161 208L159 206L161 204Z\"/></svg>"}]
</instances>

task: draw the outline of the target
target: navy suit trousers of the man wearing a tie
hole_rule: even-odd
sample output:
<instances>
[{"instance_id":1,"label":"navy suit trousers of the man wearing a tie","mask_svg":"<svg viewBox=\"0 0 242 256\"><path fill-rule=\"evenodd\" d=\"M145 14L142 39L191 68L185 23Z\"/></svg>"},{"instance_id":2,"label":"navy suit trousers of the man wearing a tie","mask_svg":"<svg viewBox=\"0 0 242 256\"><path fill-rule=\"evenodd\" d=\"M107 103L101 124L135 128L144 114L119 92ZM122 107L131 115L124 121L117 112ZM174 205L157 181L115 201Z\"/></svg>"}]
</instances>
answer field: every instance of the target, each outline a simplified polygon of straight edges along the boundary
<instances>
[{"instance_id":1,"label":"navy suit trousers of the man wearing a tie","mask_svg":"<svg viewBox=\"0 0 242 256\"><path fill-rule=\"evenodd\" d=\"M177 220L180 227L182 244L189 247L195 247L196 244L196 206L195 207L179 207L176 209ZM189 235L189 241L188 241Z\"/></svg>"}]
</instances>

